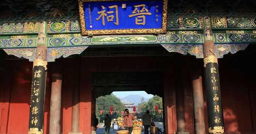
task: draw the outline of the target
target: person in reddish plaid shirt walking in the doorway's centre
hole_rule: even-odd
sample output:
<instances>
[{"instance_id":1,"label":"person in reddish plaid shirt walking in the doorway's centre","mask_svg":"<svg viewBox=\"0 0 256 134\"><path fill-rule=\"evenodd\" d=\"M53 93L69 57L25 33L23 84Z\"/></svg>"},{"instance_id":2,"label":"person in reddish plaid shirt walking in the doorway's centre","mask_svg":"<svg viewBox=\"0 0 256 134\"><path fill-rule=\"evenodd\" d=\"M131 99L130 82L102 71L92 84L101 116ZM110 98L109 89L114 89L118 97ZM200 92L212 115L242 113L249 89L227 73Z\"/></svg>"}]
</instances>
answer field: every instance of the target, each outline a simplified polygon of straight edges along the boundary
<instances>
[{"instance_id":1,"label":"person in reddish plaid shirt walking in the doorway's centre","mask_svg":"<svg viewBox=\"0 0 256 134\"><path fill-rule=\"evenodd\" d=\"M124 127L129 131L129 134L132 134L133 120L135 120L135 117L133 117L126 108L124 110Z\"/></svg>"}]
</instances>

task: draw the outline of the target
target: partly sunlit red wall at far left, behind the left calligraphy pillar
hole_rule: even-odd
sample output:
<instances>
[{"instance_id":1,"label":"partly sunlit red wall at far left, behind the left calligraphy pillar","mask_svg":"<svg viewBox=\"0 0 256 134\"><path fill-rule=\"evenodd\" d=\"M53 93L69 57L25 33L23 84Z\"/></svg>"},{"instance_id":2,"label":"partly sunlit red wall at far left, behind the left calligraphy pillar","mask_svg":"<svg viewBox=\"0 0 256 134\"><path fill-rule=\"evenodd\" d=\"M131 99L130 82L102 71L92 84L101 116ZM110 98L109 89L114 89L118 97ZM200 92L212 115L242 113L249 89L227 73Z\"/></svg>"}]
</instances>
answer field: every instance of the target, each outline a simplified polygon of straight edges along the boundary
<instances>
[{"instance_id":1,"label":"partly sunlit red wall at far left, behind the left calligraphy pillar","mask_svg":"<svg viewBox=\"0 0 256 134\"><path fill-rule=\"evenodd\" d=\"M7 61L7 69L1 74L0 118L1 134L27 134L30 90L33 64L27 60ZM49 131L50 84L46 90L44 134ZM2 86L3 85L3 86ZM8 112L7 112L8 111ZM7 121L8 119L8 121Z\"/></svg>"}]
</instances>

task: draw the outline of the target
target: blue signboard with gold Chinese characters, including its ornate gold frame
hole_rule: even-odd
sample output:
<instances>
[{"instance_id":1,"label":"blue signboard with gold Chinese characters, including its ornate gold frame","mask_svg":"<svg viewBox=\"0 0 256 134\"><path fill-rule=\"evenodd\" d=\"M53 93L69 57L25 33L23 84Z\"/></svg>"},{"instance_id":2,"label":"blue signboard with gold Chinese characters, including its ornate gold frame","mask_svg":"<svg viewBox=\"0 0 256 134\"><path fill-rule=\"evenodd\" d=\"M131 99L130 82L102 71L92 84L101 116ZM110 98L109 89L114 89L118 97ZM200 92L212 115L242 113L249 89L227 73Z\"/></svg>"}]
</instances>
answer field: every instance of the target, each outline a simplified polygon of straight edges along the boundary
<instances>
[{"instance_id":1,"label":"blue signboard with gold Chinese characters, including its ornate gold frame","mask_svg":"<svg viewBox=\"0 0 256 134\"><path fill-rule=\"evenodd\" d=\"M166 33L167 0L79 1L82 35Z\"/></svg>"}]
</instances>

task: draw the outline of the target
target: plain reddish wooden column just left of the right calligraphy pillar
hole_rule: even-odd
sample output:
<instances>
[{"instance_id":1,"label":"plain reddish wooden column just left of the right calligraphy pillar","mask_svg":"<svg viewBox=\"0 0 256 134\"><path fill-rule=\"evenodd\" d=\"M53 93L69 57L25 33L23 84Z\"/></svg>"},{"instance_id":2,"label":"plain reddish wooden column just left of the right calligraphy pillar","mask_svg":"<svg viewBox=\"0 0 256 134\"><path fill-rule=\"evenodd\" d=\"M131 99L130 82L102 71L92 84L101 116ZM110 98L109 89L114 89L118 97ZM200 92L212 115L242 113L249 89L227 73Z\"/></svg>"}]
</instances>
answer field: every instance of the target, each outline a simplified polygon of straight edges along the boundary
<instances>
[{"instance_id":1,"label":"plain reddish wooden column just left of the right calligraphy pillar","mask_svg":"<svg viewBox=\"0 0 256 134\"><path fill-rule=\"evenodd\" d=\"M202 71L197 62L193 62L191 82L193 88L193 109L195 134L206 134L204 125L204 93L202 86ZM192 66L191 66L192 67Z\"/></svg>"}]
</instances>

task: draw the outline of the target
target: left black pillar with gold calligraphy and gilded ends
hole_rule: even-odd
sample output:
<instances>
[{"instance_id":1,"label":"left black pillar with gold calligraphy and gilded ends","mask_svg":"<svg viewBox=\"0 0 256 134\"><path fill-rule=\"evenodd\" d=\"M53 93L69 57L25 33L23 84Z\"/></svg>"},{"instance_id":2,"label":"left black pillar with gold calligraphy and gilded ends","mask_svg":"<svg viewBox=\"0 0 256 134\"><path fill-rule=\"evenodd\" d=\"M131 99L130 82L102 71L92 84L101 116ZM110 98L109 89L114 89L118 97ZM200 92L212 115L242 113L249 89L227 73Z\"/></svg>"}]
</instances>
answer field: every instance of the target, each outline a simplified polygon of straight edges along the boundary
<instances>
[{"instance_id":1,"label":"left black pillar with gold calligraphy and gilded ends","mask_svg":"<svg viewBox=\"0 0 256 134\"><path fill-rule=\"evenodd\" d=\"M37 46L33 63L28 134L43 134L43 104L47 69L46 60L46 46Z\"/></svg>"}]
</instances>

